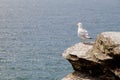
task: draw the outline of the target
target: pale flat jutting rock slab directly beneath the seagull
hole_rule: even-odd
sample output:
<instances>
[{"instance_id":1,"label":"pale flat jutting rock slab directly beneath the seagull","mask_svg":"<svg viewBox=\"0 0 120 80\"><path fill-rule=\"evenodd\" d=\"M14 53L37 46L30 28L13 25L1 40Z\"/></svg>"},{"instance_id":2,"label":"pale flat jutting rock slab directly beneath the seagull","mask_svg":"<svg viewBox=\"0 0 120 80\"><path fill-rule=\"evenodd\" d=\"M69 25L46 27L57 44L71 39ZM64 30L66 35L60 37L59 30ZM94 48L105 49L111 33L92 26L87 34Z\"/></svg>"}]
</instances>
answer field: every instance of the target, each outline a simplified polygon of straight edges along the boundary
<instances>
[{"instance_id":1,"label":"pale flat jutting rock slab directly beneath the seagull","mask_svg":"<svg viewBox=\"0 0 120 80\"><path fill-rule=\"evenodd\" d=\"M70 60L78 60L79 58L87 58L86 55L92 49L91 44L78 43L64 51L63 57Z\"/></svg>"}]
</instances>

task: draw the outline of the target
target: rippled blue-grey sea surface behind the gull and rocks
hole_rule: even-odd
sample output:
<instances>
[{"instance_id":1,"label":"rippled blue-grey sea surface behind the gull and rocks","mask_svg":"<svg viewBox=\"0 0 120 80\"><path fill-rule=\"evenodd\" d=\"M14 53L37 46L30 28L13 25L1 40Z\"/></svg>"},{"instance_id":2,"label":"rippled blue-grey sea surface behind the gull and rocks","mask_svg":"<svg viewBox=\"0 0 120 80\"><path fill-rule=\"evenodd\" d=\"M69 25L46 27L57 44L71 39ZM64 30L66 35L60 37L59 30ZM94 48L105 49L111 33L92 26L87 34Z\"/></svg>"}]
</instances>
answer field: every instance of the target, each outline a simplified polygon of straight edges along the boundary
<instances>
[{"instance_id":1,"label":"rippled blue-grey sea surface behind the gull and rocks","mask_svg":"<svg viewBox=\"0 0 120 80\"><path fill-rule=\"evenodd\" d=\"M120 0L0 0L0 80L61 80L62 57L80 42L77 23L96 38L120 31Z\"/></svg>"}]
</instances>

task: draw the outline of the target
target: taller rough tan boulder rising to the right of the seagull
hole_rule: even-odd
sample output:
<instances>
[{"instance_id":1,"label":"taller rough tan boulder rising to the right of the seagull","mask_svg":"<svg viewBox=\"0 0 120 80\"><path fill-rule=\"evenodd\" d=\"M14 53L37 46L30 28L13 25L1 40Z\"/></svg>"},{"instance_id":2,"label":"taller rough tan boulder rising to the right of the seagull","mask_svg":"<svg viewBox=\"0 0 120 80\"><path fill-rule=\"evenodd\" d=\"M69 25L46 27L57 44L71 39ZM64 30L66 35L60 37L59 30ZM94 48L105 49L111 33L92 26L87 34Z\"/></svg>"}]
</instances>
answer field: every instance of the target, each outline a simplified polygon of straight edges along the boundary
<instances>
[{"instance_id":1,"label":"taller rough tan boulder rising to the right of the seagull","mask_svg":"<svg viewBox=\"0 0 120 80\"><path fill-rule=\"evenodd\" d=\"M103 32L98 35L92 52L100 60L120 55L120 32Z\"/></svg>"}]
</instances>

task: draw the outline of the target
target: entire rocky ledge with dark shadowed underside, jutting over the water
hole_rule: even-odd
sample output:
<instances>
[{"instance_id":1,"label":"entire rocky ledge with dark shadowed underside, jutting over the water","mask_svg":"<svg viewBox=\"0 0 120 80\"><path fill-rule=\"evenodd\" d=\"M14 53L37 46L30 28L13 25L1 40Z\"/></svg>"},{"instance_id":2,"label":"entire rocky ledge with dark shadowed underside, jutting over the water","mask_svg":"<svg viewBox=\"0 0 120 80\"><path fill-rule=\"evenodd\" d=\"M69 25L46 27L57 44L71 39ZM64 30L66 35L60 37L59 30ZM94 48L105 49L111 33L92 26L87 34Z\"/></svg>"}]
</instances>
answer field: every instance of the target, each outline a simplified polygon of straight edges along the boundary
<instances>
[{"instance_id":1,"label":"entire rocky ledge with dark shadowed underside, jutting over the water","mask_svg":"<svg viewBox=\"0 0 120 80\"><path fill-rule=\"evenodd\" d=\"M120 80L120 32L103 32L95 43L78 43L64 51L74 72L62 80Z\"/></svg>"}]
</instances>

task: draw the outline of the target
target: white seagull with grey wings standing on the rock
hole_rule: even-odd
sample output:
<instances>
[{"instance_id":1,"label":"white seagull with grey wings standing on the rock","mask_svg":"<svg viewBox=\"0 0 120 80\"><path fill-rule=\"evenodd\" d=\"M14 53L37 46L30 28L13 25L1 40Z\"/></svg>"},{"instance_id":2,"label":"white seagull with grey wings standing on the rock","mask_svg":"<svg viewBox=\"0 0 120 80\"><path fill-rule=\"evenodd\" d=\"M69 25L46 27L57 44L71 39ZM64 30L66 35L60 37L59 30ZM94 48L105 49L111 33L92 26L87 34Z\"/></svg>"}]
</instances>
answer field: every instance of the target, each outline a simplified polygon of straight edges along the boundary
<instances>
[{"instance_id":1,"label":"white seagull with grey wings standing on the rock","mask_svg":"<svg viewBox=\"0 0 120 80\"><path fill-rule=\"evenodd\" d=\"M81 39L92 39L89 34L88 31L86 29L83 28L82 23L78 23L78 37Z\"/></svg>"}]
</instances>

